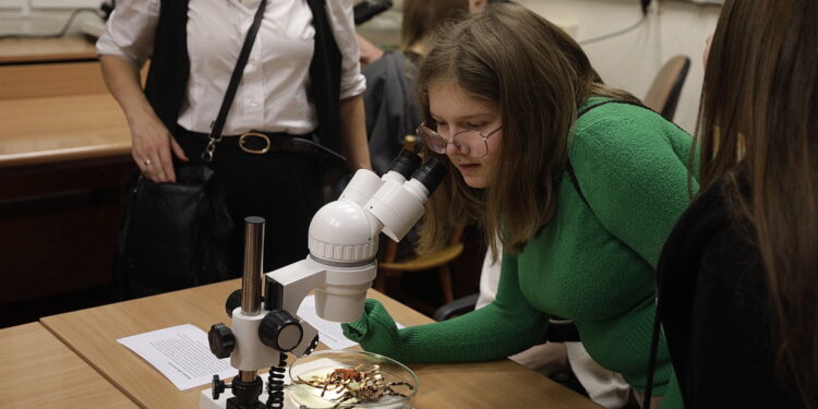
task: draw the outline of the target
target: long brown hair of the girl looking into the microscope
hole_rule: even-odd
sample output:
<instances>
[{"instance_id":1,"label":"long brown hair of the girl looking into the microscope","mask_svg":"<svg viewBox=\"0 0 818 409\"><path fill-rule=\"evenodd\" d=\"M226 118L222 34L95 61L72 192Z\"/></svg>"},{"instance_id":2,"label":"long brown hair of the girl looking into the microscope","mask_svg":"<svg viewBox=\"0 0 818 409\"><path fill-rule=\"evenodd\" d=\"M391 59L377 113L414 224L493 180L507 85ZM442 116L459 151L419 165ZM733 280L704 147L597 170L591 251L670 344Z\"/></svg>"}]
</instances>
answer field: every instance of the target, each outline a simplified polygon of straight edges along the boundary
<instances>
[{"instance_id":1,"label":"long brown hair of the girl looking into the microscope","mask_svg":"<svg viewBox=\"0 0 818 409\"><path fill-rule=\"evenodd\" d=\"M554 214L577 107L591 95L638 101L597 80L576 41L521 5L490 4L445 27L418 74L422 116L432 120L430 85L450 81L500 107L503 144L485 190L466 185L441 156L449 172L426 206L420 251L440 249L453 225L471 221L482 225L486 238L500 237L505 249L520 251ZM486 242L496 254L495 241Z\"/></svg>"}]
</instances>

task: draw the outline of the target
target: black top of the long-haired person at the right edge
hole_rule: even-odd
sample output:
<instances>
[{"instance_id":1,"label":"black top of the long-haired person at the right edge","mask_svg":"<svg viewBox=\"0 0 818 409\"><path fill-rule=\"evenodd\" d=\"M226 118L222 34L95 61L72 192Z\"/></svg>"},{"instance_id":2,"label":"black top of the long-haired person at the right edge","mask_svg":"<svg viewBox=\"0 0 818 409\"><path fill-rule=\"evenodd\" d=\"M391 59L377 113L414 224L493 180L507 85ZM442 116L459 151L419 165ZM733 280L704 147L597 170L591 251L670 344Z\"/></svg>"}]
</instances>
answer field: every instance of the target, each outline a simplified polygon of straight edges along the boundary
<instances>
[{"instance_id":1,"label":"black top of the long-haired person at the right edge","mask_svg":"<svg viewBox=\"0 0 818 409\"><path fill-rule=\"evenodd\" d=\"M659 309L686 408L798 408L775 372L759 251L723 183L682 215L659 262Z\"/></svg>"}]
</instances>

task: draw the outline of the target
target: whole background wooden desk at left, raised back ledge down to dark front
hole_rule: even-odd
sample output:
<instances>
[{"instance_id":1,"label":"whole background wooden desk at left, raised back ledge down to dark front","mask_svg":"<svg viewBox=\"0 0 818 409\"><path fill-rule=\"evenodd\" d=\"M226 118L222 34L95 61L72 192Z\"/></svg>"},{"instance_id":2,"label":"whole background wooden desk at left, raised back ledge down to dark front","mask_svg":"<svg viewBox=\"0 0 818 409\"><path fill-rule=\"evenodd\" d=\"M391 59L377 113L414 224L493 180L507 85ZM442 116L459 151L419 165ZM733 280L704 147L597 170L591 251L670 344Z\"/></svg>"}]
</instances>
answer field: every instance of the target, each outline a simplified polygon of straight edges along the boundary
<instances>
[{"instance_id":1,"label":"whole background wooden desk at left, raised back ledge down to dark front","mask_svg":"<svg viewBox=\"0 0 818 409\"><path fill-rule=\"evenodd\" d=\"M0 327L104 302L136 168L94 45L0 40Z\"/></svg>"}]
</instances>

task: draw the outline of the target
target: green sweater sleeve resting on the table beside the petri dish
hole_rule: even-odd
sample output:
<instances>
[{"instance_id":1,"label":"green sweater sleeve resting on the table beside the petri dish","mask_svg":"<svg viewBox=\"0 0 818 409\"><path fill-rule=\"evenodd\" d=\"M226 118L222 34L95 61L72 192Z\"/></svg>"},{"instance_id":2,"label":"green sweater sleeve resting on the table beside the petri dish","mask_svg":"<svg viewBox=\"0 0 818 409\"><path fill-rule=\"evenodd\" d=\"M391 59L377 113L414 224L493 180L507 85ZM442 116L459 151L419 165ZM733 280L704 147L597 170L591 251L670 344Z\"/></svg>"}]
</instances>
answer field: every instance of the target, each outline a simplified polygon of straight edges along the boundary
<instances>
[{"instance_id":1,"label":"green sweater sleeve resting on the table beside the petri dish","mask_svg":"<svg viewBox=\"0 0 818 409\"><path fill-rule=\"evenodd\" d=\"M360 320L344 335L364 350L401 362L461 362L502 359L542 339L548 315L526 302L517 262L504 256L496 300L482 309L440 323L397 329L383 305L366 300Z\"/></svg>"}]
</instances>

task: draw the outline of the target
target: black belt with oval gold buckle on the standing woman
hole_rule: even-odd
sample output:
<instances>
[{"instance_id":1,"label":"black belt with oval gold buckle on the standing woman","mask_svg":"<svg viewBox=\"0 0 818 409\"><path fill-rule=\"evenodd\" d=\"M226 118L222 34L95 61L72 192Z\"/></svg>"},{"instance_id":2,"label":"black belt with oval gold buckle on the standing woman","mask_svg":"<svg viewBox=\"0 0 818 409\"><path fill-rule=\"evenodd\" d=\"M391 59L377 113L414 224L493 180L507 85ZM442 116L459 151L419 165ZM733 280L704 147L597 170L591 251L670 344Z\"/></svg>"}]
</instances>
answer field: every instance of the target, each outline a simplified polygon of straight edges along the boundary
<instances>
[{"instance_id":1,"label":"black belt with oval gold buckle on the standing woman","mask_svg":"<svg viewBox=\"0 0 818 409\"><path fill-rule=\"evenodd\" d=\"M191 132L183 128L177 130L177 135L190 135L201 139L206 143L210 137L206 133ZM291 135L285 132L258 132L250 131L240 135L225 135L216 145L216 152L219 149L244 152L251 155L267 155L275 153L302 154L314 156L328 166L346 166L347 158L328 149L321 144L313 142L312 133L305 135Z\"/></svg>"}]
</instances>

